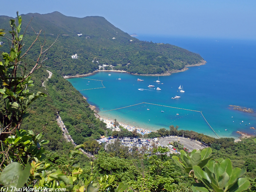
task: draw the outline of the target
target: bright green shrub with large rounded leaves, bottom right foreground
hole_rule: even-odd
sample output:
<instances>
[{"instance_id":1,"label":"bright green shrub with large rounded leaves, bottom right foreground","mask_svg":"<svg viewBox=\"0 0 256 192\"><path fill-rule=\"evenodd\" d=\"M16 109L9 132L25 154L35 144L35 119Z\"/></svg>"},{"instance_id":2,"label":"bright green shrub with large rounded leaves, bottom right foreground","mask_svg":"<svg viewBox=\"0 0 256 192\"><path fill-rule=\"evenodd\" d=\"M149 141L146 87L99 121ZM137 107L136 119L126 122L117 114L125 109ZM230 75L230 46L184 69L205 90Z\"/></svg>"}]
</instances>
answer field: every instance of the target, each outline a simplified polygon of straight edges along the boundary
<instances>
[{"instance_id":1,"label":"bright green shrub with large rounded leaves, bottom right foreground","mask_svg":"<svg viewBox=\"0 0 256 192\"><path fill-rule=\"evenodd\" d=\"M249 180L241 178L246 172L244 168L232 169L230 159L212 159L211 148L194 149L190 156L181 150L180 156L184 163L177 156L172 159L185 169L188 177L195 179L196 183L191 187L193 192L209 192L208 188L215 192L240 192L250 186Z\"/></svg>"}]
</instances>

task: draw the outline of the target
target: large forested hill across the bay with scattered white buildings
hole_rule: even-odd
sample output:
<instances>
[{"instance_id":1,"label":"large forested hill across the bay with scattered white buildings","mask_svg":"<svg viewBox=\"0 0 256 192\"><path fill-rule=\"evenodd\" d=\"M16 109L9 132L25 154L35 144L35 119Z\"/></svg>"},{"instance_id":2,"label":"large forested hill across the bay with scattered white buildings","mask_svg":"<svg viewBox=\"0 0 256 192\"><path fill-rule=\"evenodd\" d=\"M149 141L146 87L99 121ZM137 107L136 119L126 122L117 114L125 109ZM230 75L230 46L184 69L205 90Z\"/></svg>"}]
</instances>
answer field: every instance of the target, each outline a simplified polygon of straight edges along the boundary
<instances>
[{"instance_id":1,"label":"large forested hill across the bay with scattered white buildings","mask_svg":"<svg viewBox=\"0 0 256 192\"><path fill-rule=\"evenodd\" d=\"M24 38L26 45L32 43L40 29L41 41L44 41L45 36L46 44L52 44L59 35L47 54L49 60L45 65L62 76L90 73L103 64L134 74L161 74L204 61L199 54L171 44L140 41L99 16L76 18L60 12L21 16L23 30L32 18ZM10 19L0 16L0 28L9 31ZM8 52L7 40L2 37L0 41L4 42L1 50ZM32 49L31 53L29 59L33 60L38 50ZM71 58L74 54L77 54L77 59Z\"/></svg>"}]
</instances>

